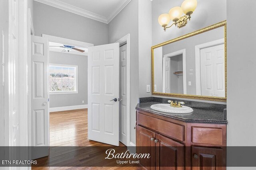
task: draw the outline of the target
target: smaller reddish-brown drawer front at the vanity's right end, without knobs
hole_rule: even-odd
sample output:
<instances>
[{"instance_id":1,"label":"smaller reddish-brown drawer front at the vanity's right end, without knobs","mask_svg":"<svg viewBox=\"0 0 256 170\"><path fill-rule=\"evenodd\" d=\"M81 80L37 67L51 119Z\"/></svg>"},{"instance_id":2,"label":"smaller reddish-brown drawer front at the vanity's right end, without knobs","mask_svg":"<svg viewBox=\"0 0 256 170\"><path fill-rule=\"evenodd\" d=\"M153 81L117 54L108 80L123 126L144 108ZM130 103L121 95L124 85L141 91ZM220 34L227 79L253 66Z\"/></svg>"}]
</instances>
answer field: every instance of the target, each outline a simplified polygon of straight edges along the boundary
<instances>
[{"instance_id":1,"label":"smaller reddish-brown drawer front at the vanity's right end, without knobs","mask_svg":"<svg viewBox=\"0 0 256 170\"><path fill-rule=\"evenodd\" d=\"M192 143L222 145L223 129L213 127L193 127Z\"/></svg>"}]
</instances>

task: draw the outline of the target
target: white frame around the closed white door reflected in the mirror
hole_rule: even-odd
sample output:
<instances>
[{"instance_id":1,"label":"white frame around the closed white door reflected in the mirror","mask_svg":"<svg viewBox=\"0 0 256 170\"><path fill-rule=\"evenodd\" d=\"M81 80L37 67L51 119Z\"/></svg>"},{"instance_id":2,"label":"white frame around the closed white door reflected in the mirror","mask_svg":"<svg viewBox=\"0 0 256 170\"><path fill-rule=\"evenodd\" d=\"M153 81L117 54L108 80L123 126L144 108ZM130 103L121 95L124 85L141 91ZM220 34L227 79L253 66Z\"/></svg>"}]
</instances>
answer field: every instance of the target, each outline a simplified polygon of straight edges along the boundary
<instances>
[{"instance_id":1,"label":"white frame around the closed white door reflected in the mirror","mask_svg":"<svg viewBox=\"0 0 256 170\"><path fill-rule=\"evenodd\" d=\"M224 44L224 38L218 39L215 41L211 41L204 44L199 44L195 46L195 60L196 60L196 95L201 96L201 56L200 56L200 50L216 45Z\"/></svg>"}]
</instances>

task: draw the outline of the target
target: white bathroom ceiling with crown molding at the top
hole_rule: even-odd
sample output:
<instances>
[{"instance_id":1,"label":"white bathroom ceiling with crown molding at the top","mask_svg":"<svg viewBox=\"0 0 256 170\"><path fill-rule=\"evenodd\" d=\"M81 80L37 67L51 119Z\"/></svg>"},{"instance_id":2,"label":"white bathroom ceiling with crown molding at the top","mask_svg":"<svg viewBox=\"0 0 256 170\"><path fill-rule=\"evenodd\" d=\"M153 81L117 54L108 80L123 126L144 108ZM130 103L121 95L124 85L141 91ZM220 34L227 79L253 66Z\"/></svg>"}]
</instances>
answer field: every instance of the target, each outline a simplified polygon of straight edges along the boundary
<instances>
[{"instance_id":1,"label":"white bathroom ceiling with crown molding at the top","mask_svg":"<svg viewBox=\"0 0 256 170\"><path fill-rule=\"evenodd\" d=\"M35 0L93 20L109 23L131 0Z\"/></svg>"}]
</instances>

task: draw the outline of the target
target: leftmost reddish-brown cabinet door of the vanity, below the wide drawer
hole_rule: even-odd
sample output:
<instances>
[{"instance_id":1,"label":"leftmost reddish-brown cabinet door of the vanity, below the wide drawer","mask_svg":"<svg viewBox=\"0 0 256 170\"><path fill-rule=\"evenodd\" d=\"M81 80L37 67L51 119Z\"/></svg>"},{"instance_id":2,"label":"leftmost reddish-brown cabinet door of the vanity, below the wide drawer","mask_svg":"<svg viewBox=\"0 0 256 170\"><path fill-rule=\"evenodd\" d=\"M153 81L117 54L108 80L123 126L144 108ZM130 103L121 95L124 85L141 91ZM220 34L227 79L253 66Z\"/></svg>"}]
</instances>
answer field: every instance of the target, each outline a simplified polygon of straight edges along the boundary
<instances>
[{"instance_id":1,"label":"leftmost reddish-brown cabinet door of the vanity, below the wide drawer","mask_svg":"<svg viewBox=\"0 0 256 170\"><path fill-rule=\"evenodd\" d=\"M150 158L139 158L140 164L148 170L155 170L156 143L155 133L136 125L136 152L137 154L150 154Z\"/></svg>"}]
</instances>

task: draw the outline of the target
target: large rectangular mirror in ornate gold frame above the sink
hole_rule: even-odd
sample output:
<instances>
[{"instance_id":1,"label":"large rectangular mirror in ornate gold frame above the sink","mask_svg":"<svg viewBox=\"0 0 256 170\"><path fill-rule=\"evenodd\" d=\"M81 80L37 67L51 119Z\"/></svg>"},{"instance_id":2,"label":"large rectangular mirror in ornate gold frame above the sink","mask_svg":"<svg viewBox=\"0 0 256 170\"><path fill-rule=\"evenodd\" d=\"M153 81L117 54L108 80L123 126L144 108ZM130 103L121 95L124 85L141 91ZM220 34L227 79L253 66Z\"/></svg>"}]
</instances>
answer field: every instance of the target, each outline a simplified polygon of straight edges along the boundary
<instances>
[{"instance_id":1,"label":"large rectangular mirror in ornate gold frame above the sink","mask_svg":"<svg viewBox=\"0 0 256 170\"><path fill-rule=\"evenodd\" d=\"M152 46L152 95L226 102L226 47L226 21Z\"/></svg>"}]
</instances>

